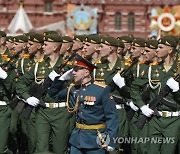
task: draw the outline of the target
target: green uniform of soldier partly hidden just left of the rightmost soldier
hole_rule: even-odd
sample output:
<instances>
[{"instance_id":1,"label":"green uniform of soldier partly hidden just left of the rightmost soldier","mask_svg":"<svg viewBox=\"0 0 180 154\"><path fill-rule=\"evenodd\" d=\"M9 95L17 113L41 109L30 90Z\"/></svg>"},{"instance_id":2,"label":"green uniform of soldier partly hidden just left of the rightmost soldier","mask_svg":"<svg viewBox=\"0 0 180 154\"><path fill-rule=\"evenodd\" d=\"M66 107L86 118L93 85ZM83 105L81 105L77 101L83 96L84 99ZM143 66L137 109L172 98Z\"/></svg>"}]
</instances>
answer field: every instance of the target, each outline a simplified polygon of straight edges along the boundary
<instances>
[{"instance_id":1,"label":"green uniform of soldier partly hidden just left of the rightmost soldier","mask_svg":"<svg viewBox=\"0 0 180 154\"><path fill-rule=\"evenodd\" d=\"M138 66L139 65L139 66ZM134 73L134 81L131 84L130 87L130 93L131 93L131 101L137 106L137 107L142 107L149 101L148 99L148 92L147 90L149 89L148 85L148 70L149 70L149 65L152 64L137 64L139 67L139 71L137 71L137 66L135 69ZM153 63L153 67L156 64ZM144 98L142 98L144 97ZM146 98L145 98L146 97ZM142 130L139 130L136 126L135 123L137 122L138 118L140 116L139 110L135 112L133 118L131 119L129 125L130 125L130 137L132 138L137 138L137 139L144 139L147 137L148 133L148 125L146 124ZM147 153L147 144L144 143L132 143L131 144L131 152L133 154L138 154L142 153L145 154Z\"/></svg>"}]
</instances>

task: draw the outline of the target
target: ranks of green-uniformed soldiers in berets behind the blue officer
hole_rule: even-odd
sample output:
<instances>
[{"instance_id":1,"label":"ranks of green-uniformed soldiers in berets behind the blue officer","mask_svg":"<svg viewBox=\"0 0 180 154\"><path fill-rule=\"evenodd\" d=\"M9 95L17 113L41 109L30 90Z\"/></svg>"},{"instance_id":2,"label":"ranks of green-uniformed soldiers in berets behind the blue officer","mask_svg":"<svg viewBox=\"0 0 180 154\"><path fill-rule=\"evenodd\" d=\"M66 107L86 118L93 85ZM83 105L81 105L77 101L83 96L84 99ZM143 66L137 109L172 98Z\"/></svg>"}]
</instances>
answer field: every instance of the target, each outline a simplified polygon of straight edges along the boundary
<instances>
[{"instance_id":1,"label":"ranks of green-uniformed soldiers in berets behind the blue officer","mask_svg":"<svg viewBox=\"0 0 180 154\"><path fill-rule=\"evenodd\" d=\"M47 78L53 81L72 68L74 53L96 66L92 76L99 86L111 87L110 97L116 102L119 117L119 138L174 138L171 144L117 143L108 153L173 154L178 151L180 98L179 83L174 79L179 73L177 37L144 40L92 34L71 38L54 31L11 37L0 31L0 40L0 153L18 150L19 153L68 153L77 113L67 107L67 97L57 101L47 90L37 96ZM158 114L154 115L149 102L166 85L171 91L159 102ZM92 102L88 94L86 99ZM27 116L29 106L33 108ZM127 118L130 111L134 114ZM140 130L136 122L143 115L150 120ZM95 119L96 116L101 115L95 115ZM112 129L115 129L113 125Z\"/></svg>"}]
</instances>

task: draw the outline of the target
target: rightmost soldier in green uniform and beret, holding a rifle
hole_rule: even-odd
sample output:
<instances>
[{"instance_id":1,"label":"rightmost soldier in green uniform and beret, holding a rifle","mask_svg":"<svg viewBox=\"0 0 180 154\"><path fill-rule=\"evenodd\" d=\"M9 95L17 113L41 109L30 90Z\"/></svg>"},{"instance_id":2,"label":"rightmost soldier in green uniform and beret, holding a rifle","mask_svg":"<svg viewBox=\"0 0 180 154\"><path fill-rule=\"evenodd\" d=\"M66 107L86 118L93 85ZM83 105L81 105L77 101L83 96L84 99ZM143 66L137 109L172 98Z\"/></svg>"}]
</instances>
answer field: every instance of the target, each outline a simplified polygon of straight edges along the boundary
<instances>
[{"instance_id":1,"label":"rightmost soldier in green uniform and beret, holding a rifle","mask_svg":"<svg viewBox=\"0 0 180 154\"><path fill-rule=\"evenodd\" d=\"M157 106L159 117L153 116L149 121L149 137L150 138L168 138L167 141L160 143L150 143L148 153L175 153L179 140L180 128L180 95L179 82L174 80L175 75L179 74L179 63L176 53L176 41L170 37L160 38L158 40L157 57L163 60L163 64L158 69L159 86L151 92L151 99L159 94L164 86L168 86L171 91L163 98L162 102ZM166 104L175 104L176 108L172 108ZM152 116L152 115L151 115Z\"/></svg>"}]
</instances>

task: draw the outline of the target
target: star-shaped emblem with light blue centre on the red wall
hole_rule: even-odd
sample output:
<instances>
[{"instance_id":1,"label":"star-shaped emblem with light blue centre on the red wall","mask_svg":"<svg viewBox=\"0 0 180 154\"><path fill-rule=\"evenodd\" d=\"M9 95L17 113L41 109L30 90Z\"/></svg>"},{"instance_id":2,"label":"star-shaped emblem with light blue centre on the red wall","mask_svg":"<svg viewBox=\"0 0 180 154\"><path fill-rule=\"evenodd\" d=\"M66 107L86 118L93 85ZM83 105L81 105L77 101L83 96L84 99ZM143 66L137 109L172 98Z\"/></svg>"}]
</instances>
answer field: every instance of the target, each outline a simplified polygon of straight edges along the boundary
<instances>
[{"instance_id":1,"label":"star-shaped emblem with light blue centre on the red wall","mask_svg":"<svg viewBox=\"0 0 180 154\"><path fill-rule=\"evenodd\" d=\"M97 11L88 6L77 6L67 15L67 26L73 34L97 32Z\"/></svg>"}]
</instances>

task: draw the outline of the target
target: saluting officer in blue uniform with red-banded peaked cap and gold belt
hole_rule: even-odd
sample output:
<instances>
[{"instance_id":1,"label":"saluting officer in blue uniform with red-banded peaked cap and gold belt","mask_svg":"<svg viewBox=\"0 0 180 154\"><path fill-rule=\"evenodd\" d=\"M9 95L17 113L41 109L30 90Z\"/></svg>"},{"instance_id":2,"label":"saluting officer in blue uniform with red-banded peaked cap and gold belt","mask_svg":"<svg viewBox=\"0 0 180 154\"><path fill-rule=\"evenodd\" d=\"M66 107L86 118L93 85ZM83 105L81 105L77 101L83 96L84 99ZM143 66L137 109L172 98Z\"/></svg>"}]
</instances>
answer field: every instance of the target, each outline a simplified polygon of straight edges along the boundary
<instances>
[{"instance_id":1,"label":"saluting officer in blue uniform with red-banded peaked cap and gold belt","mask_svg":"<svg viewBox=\"0 0 180 154\"><path fill-rule=\"evenodd\" d=\"M71 154L98 153L113 150L118 131L118 115L110 97L110 87L92 81L95 68L78 56L74 68L53 82L49 94L57 100L67 98L67 109L76 114L76 128L70 137ZM63 89L65 80L73 75L73 84ZM108 142L103 138L106 132ZM99 145L98 145L99 144Z\"/></svg>"}]
</instances>

